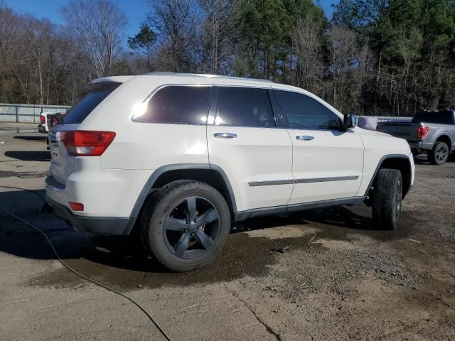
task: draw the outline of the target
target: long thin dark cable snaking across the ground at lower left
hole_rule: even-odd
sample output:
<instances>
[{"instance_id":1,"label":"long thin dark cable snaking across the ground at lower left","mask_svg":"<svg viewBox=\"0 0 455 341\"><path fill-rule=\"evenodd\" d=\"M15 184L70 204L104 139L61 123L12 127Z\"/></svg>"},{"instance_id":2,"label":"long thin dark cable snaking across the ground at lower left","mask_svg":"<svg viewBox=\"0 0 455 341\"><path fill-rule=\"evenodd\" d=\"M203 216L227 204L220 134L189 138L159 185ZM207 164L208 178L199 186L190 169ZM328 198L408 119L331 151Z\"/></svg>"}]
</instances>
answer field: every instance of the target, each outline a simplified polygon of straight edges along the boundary
<instances>
[{"instance_id":1,"label":"long thin dark cable snaking across the ground at lower left","mask_svg":"<svg viewBox=\"0 0 455 341\"><path fill-rule=\"evenodd\" d=\"M4 188L9 188L7 186L0 186L0 187L4 187ZM21 189L21 190L26 190L25 188L17 188L17 189ZM28 190L28 191L31 191L31 192L34 192L33 190ZM38 195L38 193L36 193ZM39 195L41 197L41 195ZM12 212L9 212L9 210L6 210L6 208L4 207L1 207L0 206L0 210L4 210L4 212L8 213L9 215L11 215L11 217L14 217L16 218L17 220L20 220L21 222L23 222L24 224L26 224L27 226L31 227L32 229L36 229L36 231L38 231L39 233L41 233L43 235L43 237L45 237L45 239L48 241L50 247L52 248L52 251L53 253L55 254L55 256L57 257L58 261L60 261L61 264L63 264L63 266L65 266L66 269L70 270L71 272L73 272L73 274L76 274L77 276L80 276L82 278L84 278L85 280L87 281L90 281L92 283L95 283L97 286L101 286L102 288L105 288L107 289L108 291L112 291L113 293L117 293L117 295L119 296L122 296L123 298L126 298L128 301L130 301L131 303L133 303L134 305L137 306L137 308L139 308L139 310L141 310L142 313L144 313L146 315L147 318L149 318L149 320L151 320L152 323L154 323L154 325L156 326L156 328L158 328L158 330L161 332L161 334L164 336L164 338L167 340L167 341L171 341L171 339L168 337L168 335L166 334L166 332L163 330L163 328L160 327L160 325L154 320L154 318L149 314L147 313L147 310L145 310L144 308L142 308L141 305L139 305L139 303L137 303L136 301L134 301L132 298L130 298L129 296L125 295L124 293L121 293L113 288L110 288L109 286L103 284L103 283L100 283L98 281L95 281L95 279L92 279L90 277L87 277L83 274L80 274L80 272L77 272L75 269L73 269L71 266L69 266L68 264L65 263L65 261L63 261L63 259L60 258L60 256L58 255L58 252L57 250L55 249L54 245L52 244L52 242L50 241L49 237L47 234L45 234L43 231L41 231L41 229L38 229L38 227L35 227L33 226L32 224L30 224L29 222L26 222L25 220L21 219L20 217L18 217L17 215L14 215L14 213Z\"/></svg>"}]
</instances>

